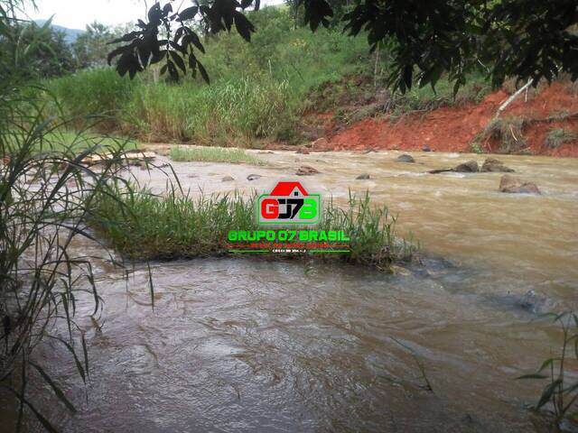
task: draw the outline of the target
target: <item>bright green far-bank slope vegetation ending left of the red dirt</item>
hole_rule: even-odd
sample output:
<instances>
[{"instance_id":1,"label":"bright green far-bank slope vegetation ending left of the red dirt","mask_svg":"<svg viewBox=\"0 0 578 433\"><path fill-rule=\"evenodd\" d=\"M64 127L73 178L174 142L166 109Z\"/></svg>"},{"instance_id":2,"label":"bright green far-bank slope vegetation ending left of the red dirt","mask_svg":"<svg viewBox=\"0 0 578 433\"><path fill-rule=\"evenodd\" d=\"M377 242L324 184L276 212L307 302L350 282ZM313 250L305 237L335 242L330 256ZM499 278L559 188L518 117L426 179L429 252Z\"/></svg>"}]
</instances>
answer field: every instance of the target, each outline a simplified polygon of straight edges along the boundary
<instances>
[{"instance_id":1,"label":"bright green far-bank slope vegetation ending left of the red dirt","mask_svg":"<svg viewBox=\"0 0 578 433\"><path fill-rule=\"evenodd\" d=\"M313 39L289 18L277 8L256 14L261 32L251 44L236 33L210 37L203 62L211 86L200 78L175 84L158 78L158 69L133 81L89 69L45 84L66 113L107 112L105 129L142 140L230 146L291 139L306 92L358 71L369 54L363 41L330 31Z\"/></svg>"}]
</instances>

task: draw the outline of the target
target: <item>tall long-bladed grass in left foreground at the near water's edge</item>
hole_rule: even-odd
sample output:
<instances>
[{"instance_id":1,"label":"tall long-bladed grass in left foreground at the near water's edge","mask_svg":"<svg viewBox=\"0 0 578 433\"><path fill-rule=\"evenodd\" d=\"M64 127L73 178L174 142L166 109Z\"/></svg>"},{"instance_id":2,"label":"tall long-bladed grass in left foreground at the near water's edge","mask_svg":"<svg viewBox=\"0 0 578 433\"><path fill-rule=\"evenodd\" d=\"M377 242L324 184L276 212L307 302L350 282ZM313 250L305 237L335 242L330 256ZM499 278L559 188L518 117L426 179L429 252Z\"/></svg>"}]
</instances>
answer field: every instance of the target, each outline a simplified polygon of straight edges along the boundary
<instances>
[{"instance_id":1,"label":"tall long-bladed grass in left foreground at the near water's edge","mask_svg":"<svg viewBox=\"0 0 578 433\"><path fill-rule=\"evenodd\" d=\"M4 104L0 117L0 387L19 403L15 431L23 430L26 413L47 431L56 431L36 409L38 395L31 391L31 377L38 378L70 412L76 411L74 401L47 373L42 356L33 353L42 340L61 345L82 381L88 382L88 347L75 321L76 302L89 296L97 314L102 299L93 274L94 258L73 251L72 245L79 238L99 244L87 230L89 212L101 193L114 200L117 189L107 188L107 182L122 181L117 170L122 168L123 143L108 145L113 156L92 170L82 161L101 151L97 143L81 136L61 137L59 131L67 122L46 115L42 104L22 97L17 89L0 94L0 99ZM106 251L103 255L104 260L112 260Z\"/></svg>"}]
</instances>

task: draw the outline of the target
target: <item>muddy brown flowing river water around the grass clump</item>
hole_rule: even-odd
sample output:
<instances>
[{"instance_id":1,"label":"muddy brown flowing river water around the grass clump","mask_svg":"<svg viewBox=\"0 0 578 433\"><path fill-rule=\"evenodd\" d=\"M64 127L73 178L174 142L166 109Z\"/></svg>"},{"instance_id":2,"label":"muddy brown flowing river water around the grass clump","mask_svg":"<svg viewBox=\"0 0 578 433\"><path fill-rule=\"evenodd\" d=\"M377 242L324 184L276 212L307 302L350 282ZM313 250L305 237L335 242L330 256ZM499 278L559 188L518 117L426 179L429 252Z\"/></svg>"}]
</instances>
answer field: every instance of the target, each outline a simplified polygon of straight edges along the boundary
<instances>
[{"instance_id":1,"label":"muddy brown flowing river water around the grass clump","mask_svg":"<svg viewBox=\"0 0 578 433\"><path fill-rule=\"evenodd\" d=\"M70 432L536 429L527 405L545 383L515 378L559 349L559 328L539 315L578 308L578 160L499 156L536 182L543 194L531 196L500 193L501 173L425 174L487 155L398 154L174 163L183 187L204 193L265 192L311 165L321 173L300 178L306 188L338 202L368 189L387 203L421 263L393 275L247 257L152 263L154 310L144 266L126 281L102 264L101 331L90 299L77 306L88 386L60 346L38 352L79 405L70 416L38 392L51 420Z\"/></svg>"}]
</instances>

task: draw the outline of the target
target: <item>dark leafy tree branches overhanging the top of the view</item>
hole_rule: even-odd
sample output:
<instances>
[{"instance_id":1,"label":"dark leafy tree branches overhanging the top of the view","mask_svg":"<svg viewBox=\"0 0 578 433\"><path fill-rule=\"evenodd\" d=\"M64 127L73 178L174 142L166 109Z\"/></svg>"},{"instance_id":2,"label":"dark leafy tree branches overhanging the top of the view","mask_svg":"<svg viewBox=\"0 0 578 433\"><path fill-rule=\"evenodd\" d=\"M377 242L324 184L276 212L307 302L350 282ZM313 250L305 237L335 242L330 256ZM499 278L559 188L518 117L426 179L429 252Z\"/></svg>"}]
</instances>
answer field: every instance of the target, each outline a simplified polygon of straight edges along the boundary
<instances>
[{"instance_id":1,"label":"dark leafy tree branches overhanging the top of the view","mask_svg":"<svg viewBox=\"0 0 578 433\"><path fill-rule=\"evenodd\" d=\"M296 0L303 6L304 23L314 32L320 24L328 27L333 9L326 0ZM138 30L116 42L127 42L108 56L119 56L117 71L134 77L153 63L164 62L178 79L180 72L197 69L209 77L197 59L204 52L200 38L190 23L212 33L233 24L250 41L255 27L246 12L259 0L210 0L172 11L172 3L155 3L148 23L138 20ZM405 92L414 82L431 85L446 73L457 90L467 73L480 64L499 87L508 77L551 81L562 72L578 78L578 0L357 0L343 16L344 31L356 36L367 33L371 50L383 42L392 53L387 83Z\"/></svg>"}]
</instances>

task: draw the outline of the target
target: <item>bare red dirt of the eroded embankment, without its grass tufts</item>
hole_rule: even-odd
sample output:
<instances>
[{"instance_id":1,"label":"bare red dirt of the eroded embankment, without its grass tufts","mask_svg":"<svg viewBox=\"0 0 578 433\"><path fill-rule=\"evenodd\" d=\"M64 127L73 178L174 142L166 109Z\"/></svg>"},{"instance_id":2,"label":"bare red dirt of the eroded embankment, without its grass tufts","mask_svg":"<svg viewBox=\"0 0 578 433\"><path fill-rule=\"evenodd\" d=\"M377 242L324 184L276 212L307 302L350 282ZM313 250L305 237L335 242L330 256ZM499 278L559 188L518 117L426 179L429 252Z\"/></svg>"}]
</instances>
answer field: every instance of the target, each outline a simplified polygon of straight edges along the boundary
<instances>
[{"instance_id":1,"label":"bare red dirt of the eroded embankment, without its grass tufts","mask_svg":"<svg viewBox=\"0 0 578 433\"><path fill-rule=\"evenodd\" d=\"M310 114L324 128L327 143L316 150L406 150L424 147L438 152L471 152L477 142L483 152L501 152L499 140L484 138L487 127L498 107L509 97L500 90L479 104L446 106L426 113L402 115L396 119L370 117L338 130L328 113ZM578 157L578 93L574 85L555 82L552 86L522 94L500 116L524 119L523 145L518 152L539 155ZM545 144L546 134L564 129L573 140L555 147Z\"/></svg>"}]
</instances>

